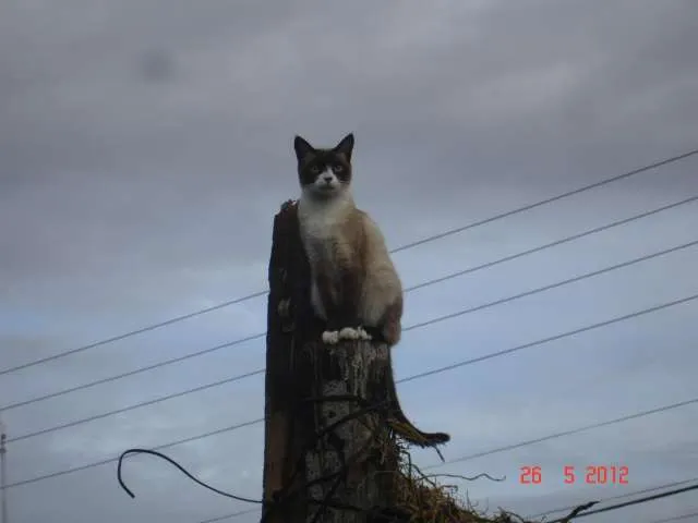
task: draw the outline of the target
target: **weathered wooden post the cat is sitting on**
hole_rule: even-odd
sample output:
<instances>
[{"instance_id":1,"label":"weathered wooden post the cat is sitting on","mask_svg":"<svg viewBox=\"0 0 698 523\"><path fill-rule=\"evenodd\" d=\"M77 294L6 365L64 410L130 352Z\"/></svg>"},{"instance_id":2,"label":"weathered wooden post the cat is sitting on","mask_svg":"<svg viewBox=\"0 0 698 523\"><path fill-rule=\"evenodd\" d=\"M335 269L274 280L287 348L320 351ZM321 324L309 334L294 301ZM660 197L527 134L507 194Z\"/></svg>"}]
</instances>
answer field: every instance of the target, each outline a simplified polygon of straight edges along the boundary
<instances>
[{"instance_id":1,"label":"weathered wooden post the cat is sitting on","mask_svg":"<svg viewBox=\"0 0 698 523\"><path fill-rule=\"evenodd\" d=\"M388 349L365 341L334 346L320 341L297 206L290 202L274 219L268 280L264 499L282 502L265 507L263 521L378 521L375 510L356 509L394 506L397 446L377 409L365 412L365 404L347 397L371 404L386 399ZM344 399L326 401L332 396ZM317 438L351 413L360 415ZM313 501L323 499L333 507Z\"/></svg>"}]
</instances>

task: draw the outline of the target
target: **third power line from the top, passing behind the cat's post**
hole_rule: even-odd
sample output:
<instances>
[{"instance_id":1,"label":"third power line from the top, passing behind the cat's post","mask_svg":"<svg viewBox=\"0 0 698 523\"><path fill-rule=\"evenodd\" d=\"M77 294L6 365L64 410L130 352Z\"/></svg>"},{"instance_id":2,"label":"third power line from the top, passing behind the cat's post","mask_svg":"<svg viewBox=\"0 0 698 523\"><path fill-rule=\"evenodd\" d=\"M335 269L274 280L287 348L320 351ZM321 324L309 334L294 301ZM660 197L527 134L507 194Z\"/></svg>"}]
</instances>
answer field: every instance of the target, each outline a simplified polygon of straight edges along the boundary
<instances>
[{"instance_id":1,"label":"third power line from the top, passing behind the cat's post","mask_svg":"<svg viewBox=\"0 0 698 523\"><path fill-rule=\"evenodd\" d=\"M416 325L406 327L404 330L405 331L416 330L416 329L423 328L423 327L426 327L429 325L435 324L437 321L443 321L443 320L452 319L452 318L455 318L455 317L458 317L458 316L464 316L466 314L473 313L473 312L477 312L477 311L483 311L485 308L490 308L490 307L494 307L494 306L497 306L497 305L502 305L504 303L513 302L513 301L519 300L521 297L528 297L528 296L531 296L533 294L538 294L538 293L541 293L541 292L544 292L544 291L549 291L551 289L556 289L556 288L564 287L564 285L567 285L567 284L570 284L570 283L576 283L578 281L588 279L588 278L592 278L592 277L595 277L595 276L599 276L599 275L602 275L602 273L611 272L613 270L617 270L617 269L621 269L621 268L626 268L626 267L629 267L629 266L633 266L633 265L636 265L636 264L639 264L639 263L642 263L642 262L647 262L649 259L653 259L653 258L657 258L657 257L660 257L660 256L665 256L666 254L675 253L677 251L681 251L681 250L684 250L684 248L688 248L688 247L691 247L691 246L695 246L695 245L698 245L698 240L694 241L694 242L689 242L689 243L683 244L683 245L678 245L678 246L674 246L674 247L666 248L666 250L663 250L663 251L659 251L659 252L655 252L655 253L652 253L652 254L647 254L645 256L640 256L638 258L634 258L634 259L630 259L630 260L627 260L627 262L623 262L621 264L616 264L616 265L613 265L613 266L610 266L610 267L604 267L603 269L599 269L599 270L594 270L594 271L591 271L591 272L587 272L585 275L579 275L579 276L576 276L574 278L568 278L566 280L562 280L562 281L555 282L555 283L552 283L552 284L539 287L537 289L532 289L532 290L529 290L529 291L526 291L526 292L522 292L522 293L519 293L519 294L515 294L513 296L507 296L507 297L504 297L504 299L495 300L493 302L489 302L489 303L484 303L484 304L481 304L481 305L477 305L474 307L470 307L470 308L466 308L466 309L462 309L462 311L458 311L456 313L450 313L448 315L444 315L444 316L441 316L438 318L433 318L433 319L430 319L428 321L423 321L421 324L416 324ZM154 405L156 403L160 403L163 401L167 401L167 400L170 400L170 399L181 398L181 397L184 397L184 396L188 396L188 394L192 394L194 392L201 392L203 390L207 390L207 389L210 389L210 388L214 388L214 387L220 387L222 385L227 385L227 384L230 384L230 382L233 382L233 381L238 381L238 380L243 379L243 378L248 378L248 377L251 377L251 376L256 376L256 375L263 374L264 370L265 370L264 368L252 370L252 372L249 372L249 373L245 373L245 374L241 374L241 375L232 376L232 377L229 377L229 378L220 379L220 380L214 381L212 384L202 385L202 386L198 386L198 387L194 387L194 388L191 388L191 389L186 389L186 390L183 390L183 391L179 391L179 392L167 394L167 396L164 396L164 397L160 397L160 398L156 398L156 399L153 399L153 400L139 402L139 403L135 403L135 404L130 405L130 406L124 406L124 408L121 408L121 409L115 409L112 411L108 411L108 412L100 413L100 414L95 414L93 416L88 416L88 417L85 417L85 418L76 419L76 421L64 423L64 424L61 424L61 425L56 425L56 426L49 427L49 428L44 428L44 429L40 429L40 430L36 430L34 433L28 433L28 434L25 434L25 435L17 436L17 437L11 439L10 441L20 441L20 440L23 440L23 439L33 438L33 437L36 437L36 436L53 433L56 430L60 430L60 429L64 429L64 428L69 428L69 427L74 427L76 425L82 425L84 423L93 422L93 421L96 421L96 419L103 419L105 417L109 417L109 416L112 416L112 415L116 415L116 414L122 414L124 412L129 412L129 411L132 411L134 409L140 409L140 408L143 408L143 406Z\"/></svg>"}]
</instances>

